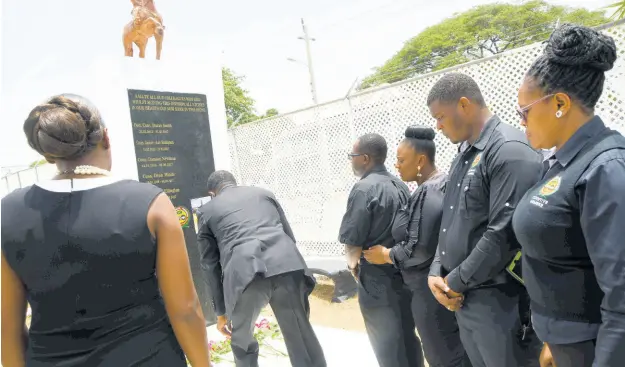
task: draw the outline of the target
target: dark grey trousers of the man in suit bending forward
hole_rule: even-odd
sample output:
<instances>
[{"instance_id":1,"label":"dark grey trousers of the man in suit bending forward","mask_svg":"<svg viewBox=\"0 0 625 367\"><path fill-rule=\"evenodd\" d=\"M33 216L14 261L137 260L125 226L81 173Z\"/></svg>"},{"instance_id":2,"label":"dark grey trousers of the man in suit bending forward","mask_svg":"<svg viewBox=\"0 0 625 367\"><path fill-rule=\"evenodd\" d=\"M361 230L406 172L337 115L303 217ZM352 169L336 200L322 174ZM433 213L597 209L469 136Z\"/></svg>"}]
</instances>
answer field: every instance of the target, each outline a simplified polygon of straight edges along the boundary
<instances>
[{"instance_id":1,"label":"dark grey trousers of the man in suit bending forward","mask_svg":"<svg viewBox=\"0 0 625 367\"><path fill-rule=\"evenodd\" d=\"M267 304L280 325L291 365L326 367L323 350L308 320L308 296L313 288L314 283L303 271L257 278L245 288L232 312L231 345L237 367L258 366L254 323Z\"/></svg>"}]
</instances>

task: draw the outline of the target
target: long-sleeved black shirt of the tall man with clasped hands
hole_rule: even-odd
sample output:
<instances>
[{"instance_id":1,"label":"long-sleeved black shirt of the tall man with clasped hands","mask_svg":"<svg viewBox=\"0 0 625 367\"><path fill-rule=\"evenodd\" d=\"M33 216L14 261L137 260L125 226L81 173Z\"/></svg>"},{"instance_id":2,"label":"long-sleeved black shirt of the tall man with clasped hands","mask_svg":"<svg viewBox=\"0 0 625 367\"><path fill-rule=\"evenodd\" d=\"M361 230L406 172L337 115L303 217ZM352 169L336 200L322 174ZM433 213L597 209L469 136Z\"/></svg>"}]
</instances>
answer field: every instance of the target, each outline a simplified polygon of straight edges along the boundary
<instances>
[{"instance_id":1,"label":"long-sleeved black shirt of the tall man with clasped hands","mask_svg":"<svg viewBox=\"0 0 625 367\"><path fill-rule=\"evenodd\" d=\"M542 156L525 134L493 116L452 163L430 274L447 276L456 292L505 282L502 272L519 249L512 213L541 171Z\"/></svg>"}]
</instances>

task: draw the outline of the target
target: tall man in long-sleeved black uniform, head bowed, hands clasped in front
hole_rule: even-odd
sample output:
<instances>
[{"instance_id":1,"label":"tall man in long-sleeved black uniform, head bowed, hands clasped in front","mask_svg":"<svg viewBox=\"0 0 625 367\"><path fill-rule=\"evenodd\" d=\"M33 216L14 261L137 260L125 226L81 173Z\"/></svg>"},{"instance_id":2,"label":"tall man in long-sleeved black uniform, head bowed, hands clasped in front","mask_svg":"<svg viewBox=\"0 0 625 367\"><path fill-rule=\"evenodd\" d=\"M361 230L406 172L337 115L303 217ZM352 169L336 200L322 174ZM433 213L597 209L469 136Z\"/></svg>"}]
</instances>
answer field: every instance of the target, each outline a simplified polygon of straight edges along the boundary
<instances>
[{"instance_id":1,"label":"tall man in long-sleeved black uniform, head bowed, hands clasped in front","mask_svg":"<svg viewBox=\"0 0 625 367\"><path fill-rule=\"evenodd\" d=\"M540 178L542 157L523 132L489 111L467 75L443 76L427 103L438 129L454 144L466 142L450 170L430 288L456 311L474 367L520 366L522 288L505 267L520 247L512 213ZM460 307L454 297L463 297Z\"/></svg>"}]
</instances>

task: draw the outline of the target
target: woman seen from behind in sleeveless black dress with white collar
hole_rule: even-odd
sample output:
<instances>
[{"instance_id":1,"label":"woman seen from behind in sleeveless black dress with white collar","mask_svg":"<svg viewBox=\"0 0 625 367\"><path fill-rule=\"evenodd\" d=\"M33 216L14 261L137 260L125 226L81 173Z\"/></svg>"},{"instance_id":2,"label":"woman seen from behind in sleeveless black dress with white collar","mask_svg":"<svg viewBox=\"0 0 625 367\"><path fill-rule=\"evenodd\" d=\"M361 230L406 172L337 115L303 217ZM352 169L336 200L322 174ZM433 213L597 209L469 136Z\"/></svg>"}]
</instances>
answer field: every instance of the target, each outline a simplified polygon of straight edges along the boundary
<instances>
[{"instance_id":1,"label":"woman seen from behind in sleeveless black dress with white collar","mask_svg":"<svg viewBox=\"0 0 625 367\"><path fill-rule=\"evenodd\" d=\"M2 199L2 365L210 366L169 198L111 177L107 129L80 96L35 107L24 133L58 173Z\"/></svg>"}]
</instances>

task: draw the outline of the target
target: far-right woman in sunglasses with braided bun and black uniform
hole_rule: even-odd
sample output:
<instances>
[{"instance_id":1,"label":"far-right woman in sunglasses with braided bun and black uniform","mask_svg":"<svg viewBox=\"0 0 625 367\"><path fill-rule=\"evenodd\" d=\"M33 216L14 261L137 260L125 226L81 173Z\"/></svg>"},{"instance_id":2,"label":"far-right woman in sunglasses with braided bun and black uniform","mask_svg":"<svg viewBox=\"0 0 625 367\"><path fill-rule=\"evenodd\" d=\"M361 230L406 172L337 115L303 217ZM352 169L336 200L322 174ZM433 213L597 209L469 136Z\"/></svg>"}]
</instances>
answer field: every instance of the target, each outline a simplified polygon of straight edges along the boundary
<instances>
[{"instance_id":1,"label":"far-right woman in sunglasses with braided bun and black uniform","mask_svg":"<svg viewBox=\"0 0 625 367\"><path fill-rule=\"evenodd\" d=\"M563 25L518 95L531 145L555 147L513 228L532 324L557 367L625 365L625 138L594 114L616 55L612 38Z\"/></svg>"}]
</instances>

